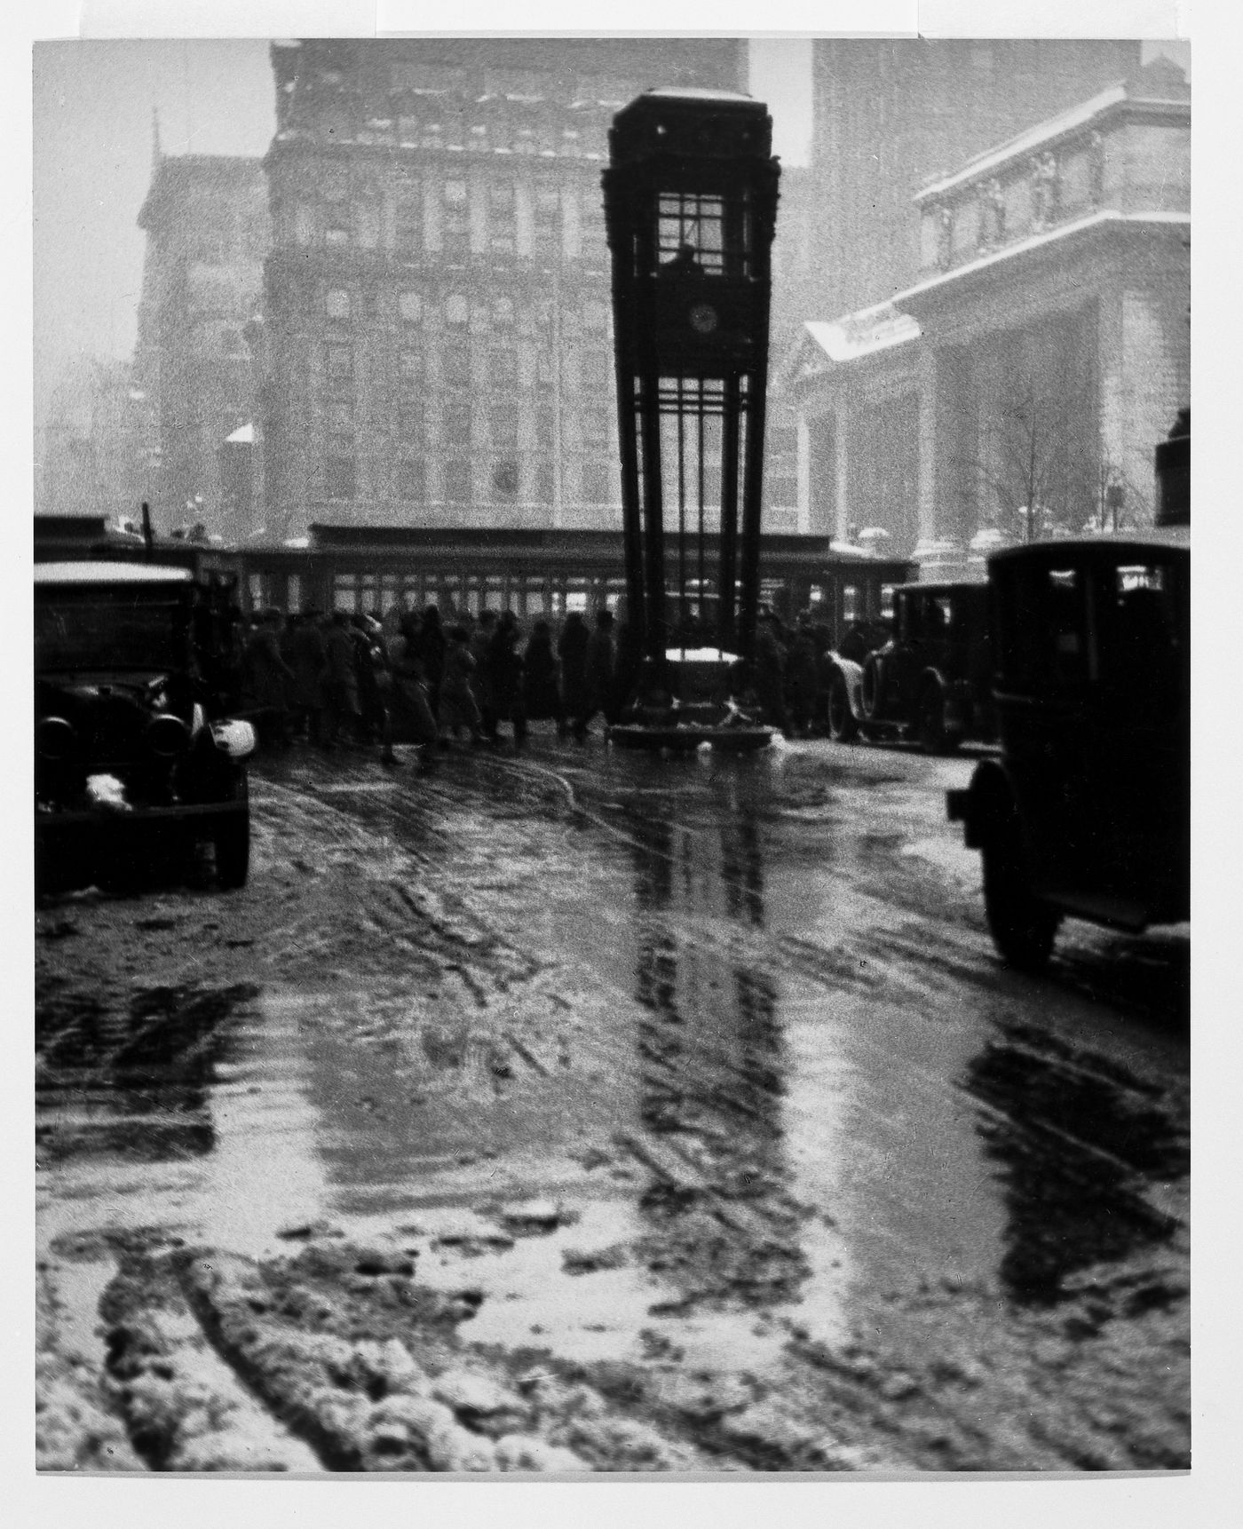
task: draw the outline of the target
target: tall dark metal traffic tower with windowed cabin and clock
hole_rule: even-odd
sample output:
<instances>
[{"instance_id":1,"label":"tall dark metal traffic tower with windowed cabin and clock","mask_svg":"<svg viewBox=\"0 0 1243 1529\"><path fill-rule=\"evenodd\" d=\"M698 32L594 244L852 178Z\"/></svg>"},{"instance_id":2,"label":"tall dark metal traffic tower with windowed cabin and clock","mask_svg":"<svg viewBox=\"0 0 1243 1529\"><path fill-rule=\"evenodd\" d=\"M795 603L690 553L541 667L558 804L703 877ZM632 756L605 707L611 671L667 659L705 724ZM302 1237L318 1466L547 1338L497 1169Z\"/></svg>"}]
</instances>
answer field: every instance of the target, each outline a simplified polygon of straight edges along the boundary
<instances>
[{"instance_id":1,"label":"tall dark metal traffic tower with windowed cabin and clock","mask_svg":"<svg viewBox=\"0 0 1243 1529\"><path fill-rule=\"evenodd\" d=\"M772 119L745 95L650 90L609 148L633 699L648 722L664 708L679 731L709 726L711 651L706 688L737 728L728 696L754 659L760 595Z\"/></svg>"}]
</instances>

